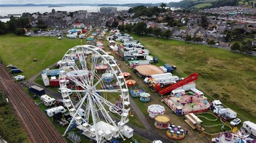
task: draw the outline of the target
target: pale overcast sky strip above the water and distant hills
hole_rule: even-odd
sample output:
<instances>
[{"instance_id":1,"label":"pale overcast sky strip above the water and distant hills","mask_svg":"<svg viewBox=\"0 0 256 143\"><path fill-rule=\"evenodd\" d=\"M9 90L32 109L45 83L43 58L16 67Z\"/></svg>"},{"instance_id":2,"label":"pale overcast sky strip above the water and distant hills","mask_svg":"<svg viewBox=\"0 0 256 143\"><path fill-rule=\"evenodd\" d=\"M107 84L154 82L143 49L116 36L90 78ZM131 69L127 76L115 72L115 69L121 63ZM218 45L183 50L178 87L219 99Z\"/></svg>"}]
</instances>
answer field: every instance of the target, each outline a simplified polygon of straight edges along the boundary
<instances>
[{"instance_id":1,"label":"pale overcast sky strip above the water and distant hills","mask_svg":"<svg viewBox=\"0 0 256 143\"><path fill-rule=\"evenodd\" d=\"M60 3L169 3L179 2L180 0L0 0L0 4L60 4Z\"/></svg>"}]
</instances>

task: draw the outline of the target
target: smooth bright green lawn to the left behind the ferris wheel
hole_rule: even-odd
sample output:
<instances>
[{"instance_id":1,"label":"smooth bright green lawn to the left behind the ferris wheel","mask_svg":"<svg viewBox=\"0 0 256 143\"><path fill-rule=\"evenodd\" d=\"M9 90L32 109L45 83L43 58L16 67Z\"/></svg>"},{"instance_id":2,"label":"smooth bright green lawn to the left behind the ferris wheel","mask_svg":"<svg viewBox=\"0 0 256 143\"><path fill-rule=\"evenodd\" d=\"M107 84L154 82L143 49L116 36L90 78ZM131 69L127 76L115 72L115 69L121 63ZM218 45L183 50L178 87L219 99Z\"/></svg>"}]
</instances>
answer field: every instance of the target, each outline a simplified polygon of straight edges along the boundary
<instances>
[{"instance_id":1,"label":"smooth bright green lawn to the left behind the ferris wheel","mask_svg":"<svg viewBox=\"0 0 256 143\"><path fill-rule=\"evenodd\" d=\"M28 79L62 59L65 52L80 45L80 39L57 40L56 37L21 37L14 34L0 36L0 56L5 65L15 65ZM86 41L82 42L86 44ZM36 58L38 61L34 62Z\"/></svg>"}]
</instances>

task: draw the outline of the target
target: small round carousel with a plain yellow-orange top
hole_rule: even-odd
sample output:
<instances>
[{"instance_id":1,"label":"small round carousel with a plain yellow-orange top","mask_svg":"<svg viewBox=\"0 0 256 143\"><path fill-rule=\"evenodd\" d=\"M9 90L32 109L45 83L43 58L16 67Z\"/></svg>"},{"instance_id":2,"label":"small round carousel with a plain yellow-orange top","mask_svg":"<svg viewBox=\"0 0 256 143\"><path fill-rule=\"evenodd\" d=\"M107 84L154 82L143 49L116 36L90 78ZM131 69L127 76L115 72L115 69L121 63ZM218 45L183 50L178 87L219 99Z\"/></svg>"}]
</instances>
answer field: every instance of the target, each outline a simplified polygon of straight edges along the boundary
<instances>
[{"instance_id":1,"label":"small round carousel with a plain yellow-orange top","mask_svg":"<svg viewBox=\"0 0 256 143\"><path fill-rule=\"evenodd\" d=\"M167 129L170 127L169 121L170 121L170 117L167 115L157 115L154 118L155 122L154 122L154 126L156 126L159 129Z\"/></svg>"}]
</instances>

